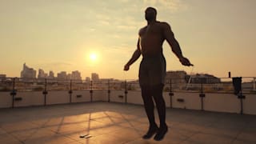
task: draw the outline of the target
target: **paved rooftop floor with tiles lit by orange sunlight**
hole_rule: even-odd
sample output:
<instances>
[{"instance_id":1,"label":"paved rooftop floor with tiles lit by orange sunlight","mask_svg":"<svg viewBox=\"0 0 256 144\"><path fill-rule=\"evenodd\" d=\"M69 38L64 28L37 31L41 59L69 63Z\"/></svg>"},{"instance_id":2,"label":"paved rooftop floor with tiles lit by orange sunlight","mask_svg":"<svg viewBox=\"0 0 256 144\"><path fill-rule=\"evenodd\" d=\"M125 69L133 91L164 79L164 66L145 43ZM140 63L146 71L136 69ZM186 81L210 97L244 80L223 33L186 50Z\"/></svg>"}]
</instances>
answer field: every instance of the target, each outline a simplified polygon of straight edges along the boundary
<instances>
[{"instance_id":1,"label":"paved rooftop floor with tiles lit by orange sunlight","mask_svg":"<svg viewBox=\"0 0 256 144\"><path fill-rule=\"evenodd\" d=\"M141 138L148 126L143 106L88 102L0 109L0 143L256 143L256 115L167 108L166 120L169 131L156 142Z\"/></svg>"}]
</instances>

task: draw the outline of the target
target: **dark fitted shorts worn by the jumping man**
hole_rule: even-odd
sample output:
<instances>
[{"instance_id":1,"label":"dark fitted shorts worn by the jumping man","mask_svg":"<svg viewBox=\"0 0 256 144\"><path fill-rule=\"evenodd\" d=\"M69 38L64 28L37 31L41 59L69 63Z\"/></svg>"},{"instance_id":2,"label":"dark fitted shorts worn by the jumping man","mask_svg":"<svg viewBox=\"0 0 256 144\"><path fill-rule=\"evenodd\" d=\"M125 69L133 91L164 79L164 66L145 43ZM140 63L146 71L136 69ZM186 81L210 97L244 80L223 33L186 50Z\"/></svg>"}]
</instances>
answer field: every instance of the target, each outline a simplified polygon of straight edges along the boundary
<instances>
[{"instance_id":1,"label":"dark fitted shorts worn by the jumping man","mask_svg":"<svg viewBox=\"0 0 256 144\"><path fill-rule=\"evenodd\" d=\"M139 66L140 86L155 86L165 83L166 58L163 54L153 57L143 57Z\"/></svg>"}]
</instances>

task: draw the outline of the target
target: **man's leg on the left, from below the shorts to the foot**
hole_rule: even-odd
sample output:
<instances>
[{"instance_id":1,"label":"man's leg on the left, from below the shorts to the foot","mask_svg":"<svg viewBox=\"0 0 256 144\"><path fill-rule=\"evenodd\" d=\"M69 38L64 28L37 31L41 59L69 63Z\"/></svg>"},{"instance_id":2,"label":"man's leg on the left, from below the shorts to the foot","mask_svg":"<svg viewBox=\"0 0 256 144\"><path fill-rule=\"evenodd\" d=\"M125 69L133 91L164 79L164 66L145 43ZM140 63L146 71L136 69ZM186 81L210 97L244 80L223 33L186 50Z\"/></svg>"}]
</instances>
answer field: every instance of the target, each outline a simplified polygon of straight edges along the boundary
<instances>
[{"instance_id":1,"label":"man's leg on the left, from below the shorts to the foot","mask_svg":"<svg viewBox=\"0 0 256 144\"><path fill-rule=\"evenodd\" d=\"M146 110L146 115L150 123L150 128L147 133L142 138L151 138L157 131L158 126L154 121L154 102L150 90L150 86L141 86L142 89L142 99L144 102L144 108Z\"/></svg>"}]
</instances>

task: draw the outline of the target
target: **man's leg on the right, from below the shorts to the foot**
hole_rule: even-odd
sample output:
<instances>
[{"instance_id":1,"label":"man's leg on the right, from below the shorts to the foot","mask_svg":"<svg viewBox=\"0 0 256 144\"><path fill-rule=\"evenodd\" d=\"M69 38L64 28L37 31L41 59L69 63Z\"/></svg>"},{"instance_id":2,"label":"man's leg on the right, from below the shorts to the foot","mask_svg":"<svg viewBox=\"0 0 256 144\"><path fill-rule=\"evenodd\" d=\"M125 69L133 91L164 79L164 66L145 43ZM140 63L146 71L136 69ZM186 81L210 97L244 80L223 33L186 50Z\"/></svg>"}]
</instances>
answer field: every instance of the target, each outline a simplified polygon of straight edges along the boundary
<instances>
[{"instance_id":1,"label":"man's leg on the right, from below the shorts to the foot","mask_svg":"<svg viewBox=\"0 0 256 144\"><path fill-rule=\"evenodd\" d=\"M158 109L158 116L160 120L158 134L156 134L154 137L154 139L157 141L162 140L168 130L168 127L166 125L166 102L162 96L163 86L163 84L160 84L152 87L152 94L154 97L154 102L156 103Z\"/></svg>"}]
</instances>

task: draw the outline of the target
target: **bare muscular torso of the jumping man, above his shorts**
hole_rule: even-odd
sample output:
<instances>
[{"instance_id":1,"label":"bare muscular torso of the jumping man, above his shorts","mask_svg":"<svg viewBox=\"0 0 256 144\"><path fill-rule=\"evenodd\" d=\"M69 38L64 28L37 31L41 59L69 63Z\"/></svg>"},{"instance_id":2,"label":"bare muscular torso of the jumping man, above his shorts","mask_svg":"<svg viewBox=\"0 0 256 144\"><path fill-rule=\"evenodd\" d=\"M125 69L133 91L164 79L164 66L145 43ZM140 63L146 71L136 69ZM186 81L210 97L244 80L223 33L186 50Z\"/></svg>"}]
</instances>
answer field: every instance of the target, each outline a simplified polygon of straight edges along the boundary
<instances>
[{"instance_id":1,"label":"bare muscular torso of the jumping man, above his shorts","mask_svg":"<svg viewBox=\"0 0 256 144\"><path fill-rule=\"evenodd\" d=\"M166 22L152 22L139 30L139 47L142 56L153 56L162 53Z\"/></svg>"}]
</instances>

